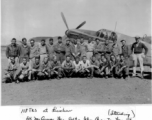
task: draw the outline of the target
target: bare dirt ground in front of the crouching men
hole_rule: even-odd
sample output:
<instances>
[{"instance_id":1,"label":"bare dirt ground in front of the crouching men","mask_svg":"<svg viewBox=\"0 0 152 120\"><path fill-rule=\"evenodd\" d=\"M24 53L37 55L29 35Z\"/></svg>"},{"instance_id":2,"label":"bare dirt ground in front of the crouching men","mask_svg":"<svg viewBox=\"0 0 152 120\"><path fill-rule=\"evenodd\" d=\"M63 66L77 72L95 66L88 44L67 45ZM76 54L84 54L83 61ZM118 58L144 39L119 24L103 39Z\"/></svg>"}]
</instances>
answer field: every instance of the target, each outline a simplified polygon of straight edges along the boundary
<instances>
[{"instance_id":1,"label":"bare dirt ground in front of the crouching men","mask_svg":"<svg viewBox=\"0 0 152 120\"><path fill-rule=\"evenodd\" d=\"M2 52L2 78L7 61ZM149 104L151 77L146 79L87 79L2 83L2 105Z\"/></svg>"}]
</instances>

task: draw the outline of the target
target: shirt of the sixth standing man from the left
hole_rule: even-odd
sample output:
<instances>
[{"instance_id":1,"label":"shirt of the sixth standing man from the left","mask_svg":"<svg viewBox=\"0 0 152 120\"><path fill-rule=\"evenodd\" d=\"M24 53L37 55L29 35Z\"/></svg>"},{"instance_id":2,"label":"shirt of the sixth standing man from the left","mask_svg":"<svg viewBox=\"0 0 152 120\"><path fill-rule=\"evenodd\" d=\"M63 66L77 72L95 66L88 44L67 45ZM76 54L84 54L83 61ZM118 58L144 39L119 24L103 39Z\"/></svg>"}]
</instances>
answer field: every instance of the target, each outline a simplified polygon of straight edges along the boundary
<instances>
[{"instance_id":1,"label":"shirt of the sixth standing man from the left","mask_svg":"<svg viewBox=\"0 0 152 120\"><path fill-rule=\"evenodd\" d=\"M65 54L65 45L63 43L59 44L57 43L55 46L54 46L54 51L56 54Z\"/></svg>"}]
</instances>

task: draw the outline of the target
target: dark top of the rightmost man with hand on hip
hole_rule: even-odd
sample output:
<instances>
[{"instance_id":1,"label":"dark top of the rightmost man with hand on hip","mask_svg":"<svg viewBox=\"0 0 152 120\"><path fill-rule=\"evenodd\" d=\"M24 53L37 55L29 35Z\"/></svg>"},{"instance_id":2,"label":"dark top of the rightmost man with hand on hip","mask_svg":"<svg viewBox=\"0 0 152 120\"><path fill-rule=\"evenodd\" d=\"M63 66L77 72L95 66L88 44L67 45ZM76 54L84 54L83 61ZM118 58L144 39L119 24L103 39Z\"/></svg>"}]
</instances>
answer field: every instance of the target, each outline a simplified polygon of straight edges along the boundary
<instances>
[{"instance_id":1,"label":"dark top of the rightmost man with hand on hip","mask_svg":"<svg viewBox=\"0 0 152 120\"><path fill-rule=\"evenodd\" d=\"M134 49L134 53L135 54L140 54L143 52L143 49L145 49L145 54L147 54L148 52L148 48L145 46L144 43L139 42L137 45L137 42L133 43L132 47L131 47L131 51L133 51Z\"/></svg>"}]
</instances>

